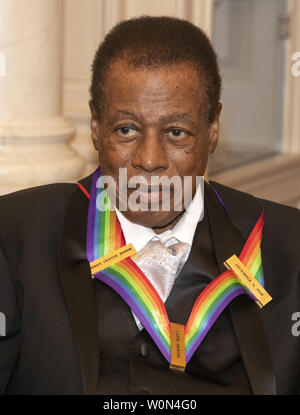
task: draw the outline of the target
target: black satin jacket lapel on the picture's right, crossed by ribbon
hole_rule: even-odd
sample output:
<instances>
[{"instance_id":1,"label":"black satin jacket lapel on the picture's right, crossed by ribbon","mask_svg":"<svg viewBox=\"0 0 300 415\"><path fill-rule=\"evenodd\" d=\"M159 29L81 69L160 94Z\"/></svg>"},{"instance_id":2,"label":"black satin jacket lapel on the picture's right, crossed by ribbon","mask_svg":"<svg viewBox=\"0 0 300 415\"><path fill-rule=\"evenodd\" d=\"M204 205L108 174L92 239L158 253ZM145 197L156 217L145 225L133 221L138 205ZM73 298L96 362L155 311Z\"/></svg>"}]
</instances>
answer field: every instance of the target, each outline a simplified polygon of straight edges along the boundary
<instances>
[{"instance_id":1,"label":"black satin jacket lapel on the picture's right, crossed by ribbon","mask_svg":"<svg viewBox=\"0 0 300 415\"><path fill-rule=\"evenodd\" d=\"M205 203L207 204L216 259L220 273L223 273L226 270L223 265L224 261L233 254L239 256L246 238L261 214L261 207L256 199L251 198L248 207L244 206L243 218L241 219L241 215L238 214L231 217L230 203L225 202L229 220L220 201L217 200L213 188L207 183L205 186ZM254 394L274 394L273 365L260 309L249 296L241 295L229 305L229 313L252 392Z\"/></svg>"}]
</instances>

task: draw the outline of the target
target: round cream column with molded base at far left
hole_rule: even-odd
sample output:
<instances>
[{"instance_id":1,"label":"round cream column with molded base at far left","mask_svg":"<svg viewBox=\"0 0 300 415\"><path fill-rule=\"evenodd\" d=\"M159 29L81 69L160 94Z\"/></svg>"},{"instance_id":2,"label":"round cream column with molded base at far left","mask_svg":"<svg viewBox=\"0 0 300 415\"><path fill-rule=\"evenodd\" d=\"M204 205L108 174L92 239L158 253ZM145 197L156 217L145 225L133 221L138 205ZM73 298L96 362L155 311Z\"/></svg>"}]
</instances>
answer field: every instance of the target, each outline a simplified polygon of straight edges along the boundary
<instances>
[{"instance_id":1,"label":"round cream column with molded base at far left","mask_svg":"<svg viewBox=\"0 0 300 415\"><path fill-rule=\"evenodd\" d=\"M61 115L61 0L0 0L0 194L76 180L84 161Z\"/></svg>"}]
</instances>

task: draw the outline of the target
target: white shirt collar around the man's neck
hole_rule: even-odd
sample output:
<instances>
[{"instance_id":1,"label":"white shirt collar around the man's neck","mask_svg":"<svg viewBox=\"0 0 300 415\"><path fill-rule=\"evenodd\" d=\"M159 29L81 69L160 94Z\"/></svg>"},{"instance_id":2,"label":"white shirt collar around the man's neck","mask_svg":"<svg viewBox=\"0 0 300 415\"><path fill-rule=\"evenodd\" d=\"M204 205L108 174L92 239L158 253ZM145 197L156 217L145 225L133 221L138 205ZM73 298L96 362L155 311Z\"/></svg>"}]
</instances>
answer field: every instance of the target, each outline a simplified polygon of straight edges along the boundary
<instances>
[{"instance_id":1,"label":"white shirt collar around the man's neck","mask_svg":"<svg viewBox=\"0 0 300 415\"><path fill-rule=\"evenodd\" d=\"M120 221L126 244L132 243L137 252L152 239L159 239L162 243L166 243L170 239L175 238L178 242L185 242L192 246L197 224L202 220L204 214L203 184L203 180L201 180L193 200L174 228L159 235L154 232L152 228L130 222L118 209L116 209L116 214Z\"/></svg>"}]
</instances>

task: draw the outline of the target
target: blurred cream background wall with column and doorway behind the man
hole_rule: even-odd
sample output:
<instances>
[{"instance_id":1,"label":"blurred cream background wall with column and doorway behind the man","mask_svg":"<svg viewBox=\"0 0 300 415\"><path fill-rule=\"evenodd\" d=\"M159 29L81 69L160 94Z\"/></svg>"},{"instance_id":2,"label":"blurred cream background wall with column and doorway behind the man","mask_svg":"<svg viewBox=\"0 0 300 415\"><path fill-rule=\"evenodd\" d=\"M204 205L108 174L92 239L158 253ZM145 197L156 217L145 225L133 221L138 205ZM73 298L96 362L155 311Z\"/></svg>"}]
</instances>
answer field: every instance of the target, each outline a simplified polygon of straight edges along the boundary
<instances>
[{"instance_id":1,"label":"blurred cream background wall with column and doorway behind the man","mask_svg":"<svg viewBox=\"0 0 300 415\"><path fill-rule=\"evenodd\" d=\"M90 65L118 21L204 29L223 78L207 176L300 208L299 0L0 0L0 194L93 171Z\"/></svg>"}]
</instances>

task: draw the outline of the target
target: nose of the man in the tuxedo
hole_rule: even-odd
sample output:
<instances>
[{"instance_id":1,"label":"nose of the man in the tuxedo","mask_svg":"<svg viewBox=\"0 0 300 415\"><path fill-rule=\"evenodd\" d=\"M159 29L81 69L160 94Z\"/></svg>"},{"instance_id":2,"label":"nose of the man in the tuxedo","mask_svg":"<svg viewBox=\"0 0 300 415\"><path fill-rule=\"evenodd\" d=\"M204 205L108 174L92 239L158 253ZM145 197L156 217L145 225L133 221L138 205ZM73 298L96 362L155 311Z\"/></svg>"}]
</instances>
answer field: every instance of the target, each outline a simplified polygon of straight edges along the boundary
<instances>
[{"instance_id":1,"label":"nose of the man in the tuxedo","mask_svg":"<svg viewBox=\"0 0 300 415\"><path fill-rule=\"evenodd\" d=\"M147 131L139 140L132 159L134 168L147 172L163 171L169 167L163 137L156 131Z\"/></svg>"}]
</instances>

